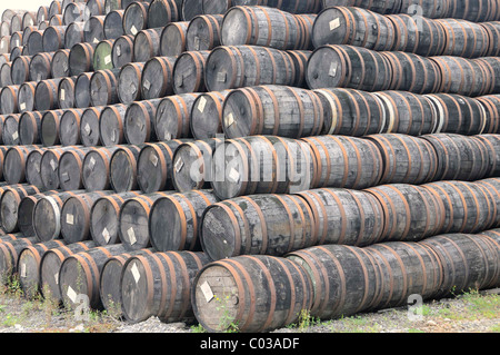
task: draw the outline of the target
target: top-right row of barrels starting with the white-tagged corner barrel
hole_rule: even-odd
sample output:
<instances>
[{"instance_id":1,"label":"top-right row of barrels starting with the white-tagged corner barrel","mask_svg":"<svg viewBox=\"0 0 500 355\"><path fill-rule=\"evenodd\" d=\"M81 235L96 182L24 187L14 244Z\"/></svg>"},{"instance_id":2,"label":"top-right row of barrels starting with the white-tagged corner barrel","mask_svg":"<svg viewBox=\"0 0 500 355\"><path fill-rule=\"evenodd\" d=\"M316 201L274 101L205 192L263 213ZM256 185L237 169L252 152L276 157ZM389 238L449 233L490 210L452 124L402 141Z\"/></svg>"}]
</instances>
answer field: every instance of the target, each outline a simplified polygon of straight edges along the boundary
<instances>
[{"instance_id":1,"label":"top-right row of barrels starting with the white-tagged corner barrel","mask_svg":"<svg viewBox=\"0 0 500 355\"><path fill-rule=\"evenodd\" d=\"M419 14L379 14L361 8L331 7L316 18L311 38L314 48L351 45L426 57L478 58L498 56L499 30L498 21L433 20Z\"/></svg>"}]
</instances>

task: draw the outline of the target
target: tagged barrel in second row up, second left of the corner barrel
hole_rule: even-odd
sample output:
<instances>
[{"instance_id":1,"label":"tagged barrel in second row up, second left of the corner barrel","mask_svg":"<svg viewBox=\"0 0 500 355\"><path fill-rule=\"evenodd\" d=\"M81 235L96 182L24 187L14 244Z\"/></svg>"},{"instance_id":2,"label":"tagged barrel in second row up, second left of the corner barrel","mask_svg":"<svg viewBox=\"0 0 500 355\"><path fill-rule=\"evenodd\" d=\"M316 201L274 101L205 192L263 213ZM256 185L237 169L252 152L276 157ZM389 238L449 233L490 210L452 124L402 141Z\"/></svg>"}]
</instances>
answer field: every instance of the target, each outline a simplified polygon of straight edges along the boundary
<instances>
[{"instance_id":1,"label":"tagged barrel in second row up, second left of the corner barrel","mask_svg":"<svg viewBox=\"0 0 500 355\"><path fill-rule=\"evenodd\" d=\"M148 220L157 199L173 194L163 191L144 194L123 203L119 214L118 236L127 250L139 250L151 246Z\"/></svg>"}]
</instances>

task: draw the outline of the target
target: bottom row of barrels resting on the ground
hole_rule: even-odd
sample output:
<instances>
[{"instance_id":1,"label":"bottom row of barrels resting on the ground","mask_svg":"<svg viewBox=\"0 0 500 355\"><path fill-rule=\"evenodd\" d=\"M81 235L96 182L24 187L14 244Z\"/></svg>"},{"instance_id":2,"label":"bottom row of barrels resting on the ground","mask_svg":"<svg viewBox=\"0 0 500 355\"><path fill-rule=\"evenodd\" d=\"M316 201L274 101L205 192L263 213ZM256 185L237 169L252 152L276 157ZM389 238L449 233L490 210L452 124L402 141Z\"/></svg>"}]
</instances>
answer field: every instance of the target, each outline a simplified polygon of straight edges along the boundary
<instances>
[{"instance_id":1,"label":"bottom row of barrels resting on the ground","mask_svg":"<svg viewBox=\"0 0 500 355\"><path fill-rule=\"evenodd\" d=\"M302 310L331 319L401 306L414 294L439 299L500 285L498 229L216 262L202 252L128 253L92 241L1 238L2 282L18 275L30 297L42 293L77 307L84 296L93 309L130 322L158 316L198 322L209 332L234 324L239 332L269 332L293 324Z\"/></svg>"}]
</instances>

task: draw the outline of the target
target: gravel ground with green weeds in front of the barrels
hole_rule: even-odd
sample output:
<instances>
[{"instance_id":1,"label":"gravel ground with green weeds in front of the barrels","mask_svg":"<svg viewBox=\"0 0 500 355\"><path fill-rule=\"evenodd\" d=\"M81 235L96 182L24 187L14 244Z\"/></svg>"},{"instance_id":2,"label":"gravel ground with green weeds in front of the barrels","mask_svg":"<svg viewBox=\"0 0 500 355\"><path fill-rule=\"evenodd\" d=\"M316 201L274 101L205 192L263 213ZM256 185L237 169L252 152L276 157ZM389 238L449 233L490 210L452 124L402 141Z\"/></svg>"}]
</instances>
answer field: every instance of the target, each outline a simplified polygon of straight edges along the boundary
<instances>
[{"instance_id":1,"label":"gravel ground with green weeds in front of the barrels","mask_svg":"<svg viewBox=\"0 0 500 355\"><path fill-rule=\"evenodd\" d=\"M473 293L423 304L421 318L412 321L408 308L359 314L343 319L302 319L272 333L498 333L500 290ZM19 295L0 294L0 333L194 333L200 327L184 323L166 324L157 317L129 324L107 313L91 313L76 319L48 302L26 300Z\"/></svg>"}]
</instances>

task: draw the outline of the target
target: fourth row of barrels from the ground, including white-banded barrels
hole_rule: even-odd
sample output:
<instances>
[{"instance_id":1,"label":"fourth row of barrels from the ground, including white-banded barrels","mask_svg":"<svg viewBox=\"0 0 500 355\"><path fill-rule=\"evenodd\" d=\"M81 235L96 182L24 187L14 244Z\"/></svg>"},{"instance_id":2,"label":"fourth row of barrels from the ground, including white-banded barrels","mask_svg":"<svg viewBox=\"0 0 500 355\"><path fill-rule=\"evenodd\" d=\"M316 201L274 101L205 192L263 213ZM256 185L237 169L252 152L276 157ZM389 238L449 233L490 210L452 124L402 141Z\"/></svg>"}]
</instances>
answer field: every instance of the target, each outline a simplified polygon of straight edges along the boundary
<instances>
[{"instance_id":1,"label":"fourth row of barrels from the ground, including white-banded barrels","mask_svg":"<svg viewBox=\"0 0 500 355\"><path fill-rule=\"evenodd\" d=\"M111 95L94 96L92 92L99 90L103 76L98 71L90 78L90 96L96 99ZM47 81L40 81L31 95L26 86L21 86L17 96L18 106L26 110L0 116L3 145L94 147L256 135L301 138L446 132L471 136L498 134L500 125L498 95L471 98L453 93L368 92L343 88L308 90L268 85L172 95L130 103L101 102L103 105L86 109L33 111L33 102L50 108L48 102L54 97L51 95L53 88ZM74 93L66 80L60 82L57 91L59 97L68 100ZM0 102L9 106L14 100L11 93L4 88L0 92Z\"/></svg>"}]
</instances>

